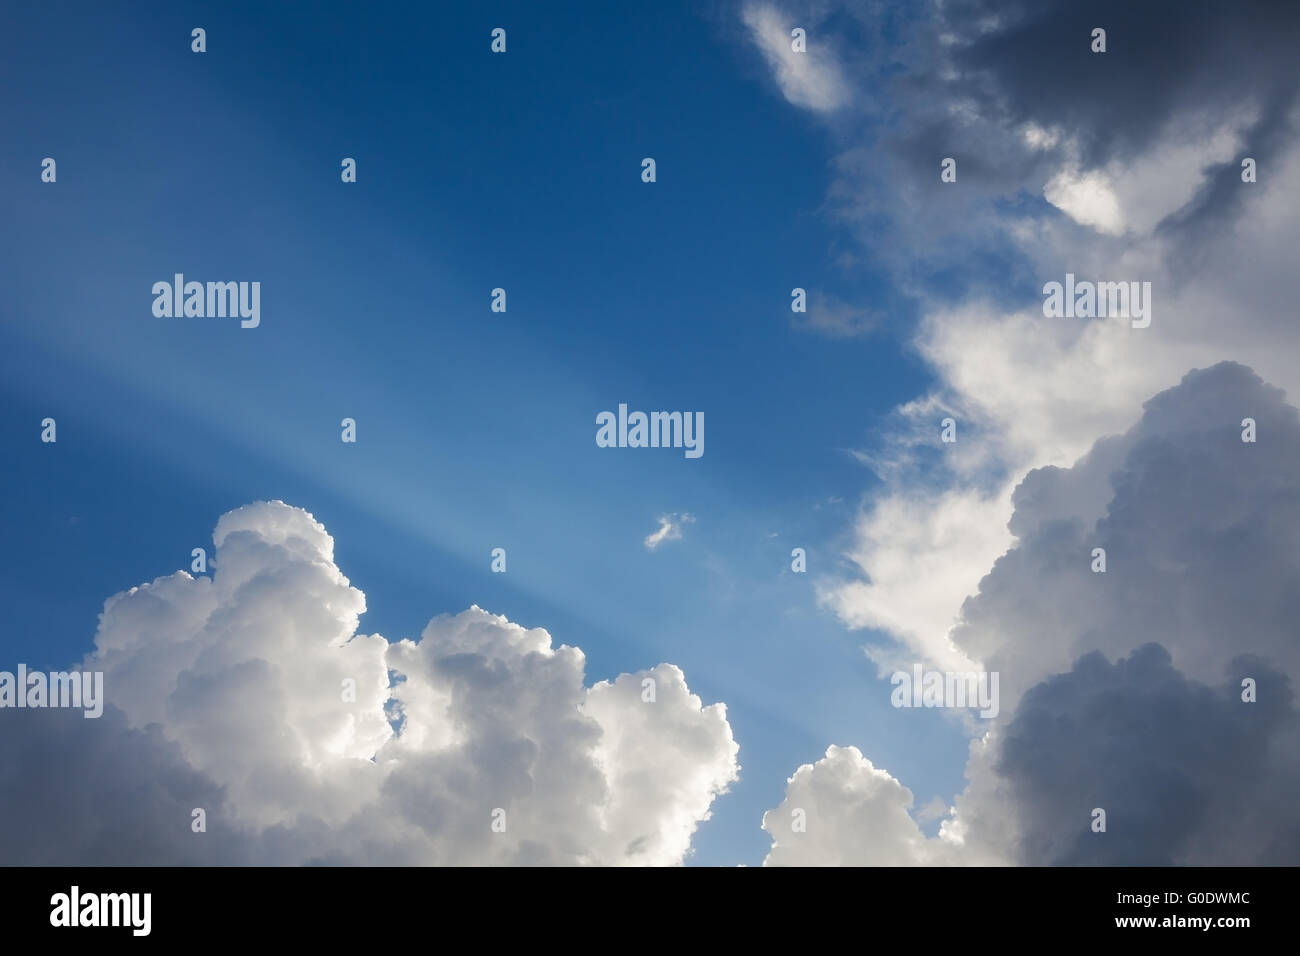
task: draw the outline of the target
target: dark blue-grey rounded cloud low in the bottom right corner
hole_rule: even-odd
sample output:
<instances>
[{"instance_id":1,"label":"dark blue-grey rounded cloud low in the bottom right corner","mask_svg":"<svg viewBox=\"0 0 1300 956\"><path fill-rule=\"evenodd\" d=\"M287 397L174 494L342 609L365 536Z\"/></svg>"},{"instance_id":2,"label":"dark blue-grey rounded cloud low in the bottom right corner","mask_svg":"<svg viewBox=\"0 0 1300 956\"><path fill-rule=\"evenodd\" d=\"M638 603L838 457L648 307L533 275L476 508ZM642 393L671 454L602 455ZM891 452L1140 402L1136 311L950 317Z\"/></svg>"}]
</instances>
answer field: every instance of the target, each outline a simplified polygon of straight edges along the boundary
<instances>
[{"instance_id":1,"label":"dark blue-grey rounded cloud low in the bottom right corner","mask_svg":"<svg viewBox=\"0 0 1300 956\"><path fill-rule=\"evenodd\" d=\"M1110 663L1100 653L1032 688L997 771L1017 796L1017 856L1040 865L1295 864L1300 806L1290 682L1239 658L1214 689L1147 644ZM1257 702L1242 701L1242 678ZM1092 812L1106 831L1092 831ZM1261 813L1261 810L1266 810Z\"/></svg>"}]
</instances>

